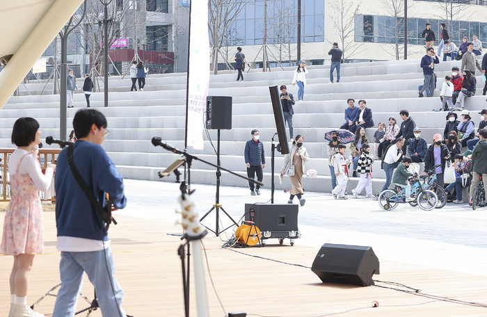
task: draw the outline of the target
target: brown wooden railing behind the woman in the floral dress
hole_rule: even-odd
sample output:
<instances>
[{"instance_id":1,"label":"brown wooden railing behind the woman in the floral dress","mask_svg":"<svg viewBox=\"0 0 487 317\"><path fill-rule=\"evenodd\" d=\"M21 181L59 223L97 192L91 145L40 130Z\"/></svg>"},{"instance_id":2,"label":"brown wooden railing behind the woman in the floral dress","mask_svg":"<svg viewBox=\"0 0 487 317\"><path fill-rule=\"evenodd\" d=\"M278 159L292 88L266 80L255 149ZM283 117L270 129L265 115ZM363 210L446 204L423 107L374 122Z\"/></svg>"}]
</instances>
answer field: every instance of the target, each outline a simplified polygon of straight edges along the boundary
<instances>
[{"instance_id":1,"label":"brown wooden railing behind the woman in the floral dress","mask_svg":"<svg viewBox=\"0 0 487 317\"><path fill-rule=\"evenodd\" d=\"M1 170L1 199L0 202L9 202L10 197L7 195L10 190L10 181L8 175L8 155L15 151L13 147L0 147L0 170ZM56 154L59 154L61 149L39 149L39 159L44 158L44 162L40 163L42 170L47 168L47 165L54 163ZM50 157L49 157L50 155ZM41 160L42 161L42 160ZM45 202L55 202L56 197L49 199L41 199Z\"/></svg>"}]
</instances>

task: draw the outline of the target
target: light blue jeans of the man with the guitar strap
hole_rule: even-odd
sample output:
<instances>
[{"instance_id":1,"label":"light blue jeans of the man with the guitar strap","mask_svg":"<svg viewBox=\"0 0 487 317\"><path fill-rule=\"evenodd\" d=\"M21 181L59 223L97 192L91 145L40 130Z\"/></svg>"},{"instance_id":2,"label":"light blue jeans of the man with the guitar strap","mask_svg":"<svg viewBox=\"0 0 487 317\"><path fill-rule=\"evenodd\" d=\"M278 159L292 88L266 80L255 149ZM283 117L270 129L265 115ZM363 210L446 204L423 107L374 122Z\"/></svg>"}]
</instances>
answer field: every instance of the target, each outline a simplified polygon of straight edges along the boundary
<instances>
[{"instance_id":1,"label":"light blue jeans of the man with the guitar strap","mask_svg":"<svg viewBox=\"0 0 487 317\"><path fill-rule=\"evenodd\" d=\"M99 308L104 317L126 317L122 309L123 292L115 279L111 250L93 252L61 252L61 282L53 317L72 317L86 272L95 286Z\"/></svg>"}]
</instances>

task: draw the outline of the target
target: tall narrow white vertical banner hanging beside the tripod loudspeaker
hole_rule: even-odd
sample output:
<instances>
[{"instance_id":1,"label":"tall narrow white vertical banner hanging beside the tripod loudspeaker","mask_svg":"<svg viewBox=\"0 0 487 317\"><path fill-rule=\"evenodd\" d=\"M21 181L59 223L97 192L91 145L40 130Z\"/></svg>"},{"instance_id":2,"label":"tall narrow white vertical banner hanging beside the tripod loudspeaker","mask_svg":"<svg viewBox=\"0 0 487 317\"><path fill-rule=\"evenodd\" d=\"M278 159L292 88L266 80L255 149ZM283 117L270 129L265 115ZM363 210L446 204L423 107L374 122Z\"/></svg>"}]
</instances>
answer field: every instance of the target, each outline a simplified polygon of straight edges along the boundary
<instances>
[{"instance_id":1,"label":"tall narrow white vertical banner hanging beside the tripod loudspeaker","mask_svg":"<svg viewBox=\"0 0 487 317\"><path fill-rule=\"evenodd\" d=\"M203 149L206 100L209 86L208 0L191 2L186 147Z\"/></svg>"}]
</instances>

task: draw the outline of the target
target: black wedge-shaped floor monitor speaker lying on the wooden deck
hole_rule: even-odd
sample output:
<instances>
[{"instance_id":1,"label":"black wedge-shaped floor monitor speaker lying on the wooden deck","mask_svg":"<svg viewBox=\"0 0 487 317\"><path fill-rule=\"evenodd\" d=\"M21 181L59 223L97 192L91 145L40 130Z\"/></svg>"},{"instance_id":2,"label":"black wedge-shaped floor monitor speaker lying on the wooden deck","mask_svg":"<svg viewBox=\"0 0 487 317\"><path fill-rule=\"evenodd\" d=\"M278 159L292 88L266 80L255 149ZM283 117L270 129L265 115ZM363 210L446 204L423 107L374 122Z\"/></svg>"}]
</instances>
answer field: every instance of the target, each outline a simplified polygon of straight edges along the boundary
<instances>
[{"instance_id":1,"label":"black wedge-shaped floor monitor speaker lying on the wooden deck","mask_svg":"<svg viewBox=\"0 0 487 317\"><path fill-rule=\"evenodd\" d=\"M321 281L374 285L372 275L379 274L378 259L372 247L325 243L314 259L311 270Z\"/></svg>"}]
</instances>

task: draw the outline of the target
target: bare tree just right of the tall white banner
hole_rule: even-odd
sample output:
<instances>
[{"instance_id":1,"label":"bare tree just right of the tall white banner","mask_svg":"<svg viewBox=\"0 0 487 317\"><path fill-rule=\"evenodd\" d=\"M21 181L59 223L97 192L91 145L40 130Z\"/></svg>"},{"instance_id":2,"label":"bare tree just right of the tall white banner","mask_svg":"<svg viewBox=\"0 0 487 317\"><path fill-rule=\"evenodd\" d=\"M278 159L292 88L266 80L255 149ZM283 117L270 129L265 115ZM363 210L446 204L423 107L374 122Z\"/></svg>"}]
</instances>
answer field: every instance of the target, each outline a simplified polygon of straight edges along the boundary
<instances>
[{"instance_id":1,"label":"bare tree just right of the tall white banner","mask_svg":"<svg viewBox=\"0 0 487 317\"><path fill-rule=\"evenodd\" d=\"M209 0L208 28L210 33L213 74L218 73L218 51L223 47L225 35L249 0Z\"/></svg>"}]
</instances>

